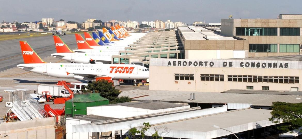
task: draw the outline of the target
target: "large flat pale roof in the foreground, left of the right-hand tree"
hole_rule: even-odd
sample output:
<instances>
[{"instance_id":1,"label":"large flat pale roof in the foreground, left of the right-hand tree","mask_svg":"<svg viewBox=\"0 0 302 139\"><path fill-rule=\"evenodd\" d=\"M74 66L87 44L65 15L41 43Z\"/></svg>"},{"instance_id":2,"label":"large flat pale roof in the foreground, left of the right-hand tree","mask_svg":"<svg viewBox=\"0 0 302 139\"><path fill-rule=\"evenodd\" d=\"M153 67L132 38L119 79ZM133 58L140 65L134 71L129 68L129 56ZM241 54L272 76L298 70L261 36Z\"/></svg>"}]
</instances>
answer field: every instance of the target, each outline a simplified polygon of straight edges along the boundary
<instances>
[{"instance_id":1,"label":"large flat pale roof in the foreground, left of the right-hand tree","mask_svg":"<svg viewBox=\"0 0 302 139\"><path fill-rule=\"evenodd\" d=\"M165 126L171 130L187 130L187 131L214 131L213 125L220 128L236 127L247 123L259 122L271 118L271 110L263 109L240 109L223 113L216 113L210 116L200 116L189 119L181 119L162 124L156 124L151 128L160 128ZM202 126L201 126L202 124Z\"/></svg>"}]
</instances>

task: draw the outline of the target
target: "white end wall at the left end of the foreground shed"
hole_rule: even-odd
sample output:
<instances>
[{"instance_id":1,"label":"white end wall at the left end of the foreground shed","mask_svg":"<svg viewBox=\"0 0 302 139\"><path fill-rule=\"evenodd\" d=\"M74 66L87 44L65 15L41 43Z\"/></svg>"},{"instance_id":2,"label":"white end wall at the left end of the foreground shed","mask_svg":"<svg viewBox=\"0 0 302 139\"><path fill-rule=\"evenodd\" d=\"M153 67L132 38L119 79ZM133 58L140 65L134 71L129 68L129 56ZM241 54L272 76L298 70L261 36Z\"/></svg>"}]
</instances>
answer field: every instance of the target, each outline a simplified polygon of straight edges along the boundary
<instances>
[{"instance_id":1,"label":"white end wall at the left end of the foreground shed","mask_svg":"<svg viewBox=\"0 0 302 139\"><path fill-rule=\"evenodd\" d=\"M78 120L73 118L66 118L66 138L67 139L91 139L92 133L73 133L72 131L72 125L79 125L79 124L87 124L91 123L91 121L85 121L85 120Z\"/></svg>"}]
</instances>

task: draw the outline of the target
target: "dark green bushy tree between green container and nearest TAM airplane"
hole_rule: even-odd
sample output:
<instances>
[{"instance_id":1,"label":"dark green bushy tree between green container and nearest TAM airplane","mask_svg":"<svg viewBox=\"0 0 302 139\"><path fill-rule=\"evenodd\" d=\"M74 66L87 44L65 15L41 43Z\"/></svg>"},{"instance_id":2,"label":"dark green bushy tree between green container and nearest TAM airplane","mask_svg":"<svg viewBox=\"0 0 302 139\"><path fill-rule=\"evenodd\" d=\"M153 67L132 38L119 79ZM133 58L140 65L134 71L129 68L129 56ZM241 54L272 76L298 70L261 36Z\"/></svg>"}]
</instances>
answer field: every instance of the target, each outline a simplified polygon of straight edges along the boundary
<instances>
[{"instance_id":1,"label":"dark green bushy tree between green container and nearest TAM airplane","mask_svg":"<svg viewBox=\"0 0 302 139\"><path fill-rule=\"evenodd\" d=\"M97 93L101 93L102 97L105 97L109 100L109 103L124 103L130 102L129 97L117 97L120 94L120 90L116 89L113 86L113 83L108 82L107 80L98 80L96 82L88 83L87 90L82 89L82 92L91 92L95 90Z\"/></svg>"}]
</instances>

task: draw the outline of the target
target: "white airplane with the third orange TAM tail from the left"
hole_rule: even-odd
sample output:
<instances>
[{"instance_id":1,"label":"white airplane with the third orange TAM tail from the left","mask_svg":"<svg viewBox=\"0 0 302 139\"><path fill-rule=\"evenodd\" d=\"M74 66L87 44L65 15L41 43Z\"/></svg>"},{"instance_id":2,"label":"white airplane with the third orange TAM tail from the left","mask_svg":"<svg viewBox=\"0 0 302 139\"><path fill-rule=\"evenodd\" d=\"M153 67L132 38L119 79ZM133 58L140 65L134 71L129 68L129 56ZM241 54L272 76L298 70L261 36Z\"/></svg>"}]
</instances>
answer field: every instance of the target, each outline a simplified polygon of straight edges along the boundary
<instances>
[{"instance_id":1,"label":"white airplane with the third orange TAM tail from the left","mask_svg":"<svg viewBox=\"0 0 302 139\"><path fill-rule=\"evenodd\" d=\"M125 46L90 46L85 39L81 36L81 34L77 34L75 33L76 36L76 42L78 45L79 49L73 50L74 52L86 52L86 53L99 53L98 51L102 51L102 50L116 50L116 51L120 51L120 50L125 50ZM90 50L90 49L95 49L95 50Z\"/></svg>"}]
</instances>

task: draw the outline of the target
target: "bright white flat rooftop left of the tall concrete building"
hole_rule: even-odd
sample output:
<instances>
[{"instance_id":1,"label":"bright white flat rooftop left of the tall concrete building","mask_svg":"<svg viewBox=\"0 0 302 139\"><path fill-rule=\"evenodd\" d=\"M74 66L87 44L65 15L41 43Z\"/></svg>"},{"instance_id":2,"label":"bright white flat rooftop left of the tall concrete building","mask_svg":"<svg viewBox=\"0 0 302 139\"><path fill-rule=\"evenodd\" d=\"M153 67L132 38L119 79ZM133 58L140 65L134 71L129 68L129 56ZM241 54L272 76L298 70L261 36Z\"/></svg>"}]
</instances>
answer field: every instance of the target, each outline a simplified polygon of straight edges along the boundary
<instances>
[{"instance_id":1,"label":"bright white flat rooftop left of the tall concrete building","mask_svg":"<svg viewBox=\"0 0 302 139\"><path fill-rule=\"evenodd\" d=\"M236 40L200 26L182 26L178 29L186 40Z\"/></svg>"}]
</instances>

